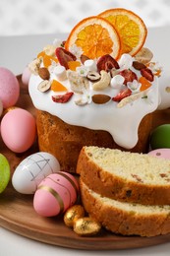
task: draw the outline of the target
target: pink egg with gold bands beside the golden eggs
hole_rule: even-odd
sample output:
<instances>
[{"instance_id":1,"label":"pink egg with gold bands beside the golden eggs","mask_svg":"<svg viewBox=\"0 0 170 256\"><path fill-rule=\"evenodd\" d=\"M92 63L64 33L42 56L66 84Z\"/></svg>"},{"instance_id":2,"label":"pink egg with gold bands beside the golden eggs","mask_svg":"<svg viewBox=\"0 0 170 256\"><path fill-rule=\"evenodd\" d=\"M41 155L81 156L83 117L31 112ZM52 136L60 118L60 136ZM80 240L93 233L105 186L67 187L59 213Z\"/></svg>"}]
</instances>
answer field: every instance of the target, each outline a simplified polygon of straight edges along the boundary
<instances>
[{"instance_id":1,"label":"pink egg with gold bands beside the golden eggs","mask_svg":"<svg viewBox=\"0 0 170 256\"><path fill-rule=\"evenodd\" d=\"M48 175L39 184L33 198L33 207L43 217L57 216L73 206L77 200L79 185L68 172Z\"/></svg>"}]
</instances>

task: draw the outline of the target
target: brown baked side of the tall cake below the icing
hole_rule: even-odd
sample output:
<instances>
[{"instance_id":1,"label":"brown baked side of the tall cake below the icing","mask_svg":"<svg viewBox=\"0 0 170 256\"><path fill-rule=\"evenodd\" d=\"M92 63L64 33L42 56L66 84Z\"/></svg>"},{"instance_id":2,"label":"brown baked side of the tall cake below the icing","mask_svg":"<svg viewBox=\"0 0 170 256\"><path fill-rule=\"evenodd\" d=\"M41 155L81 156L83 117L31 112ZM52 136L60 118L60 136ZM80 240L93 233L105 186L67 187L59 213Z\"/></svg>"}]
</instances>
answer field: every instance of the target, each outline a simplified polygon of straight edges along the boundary
<instances>
[{"instance_id":1,"label":"brown baked side of the tall cake below the icing","mask_svg":"<svg viewBox=\"0 0 170 256\"><path fill-rule=\"evenodd\" d=\"M131 152L147 151L151 121L151 114L142 119L139 142ZM39 150L55 156L61 164L61 170L76 172L79 154L84 146L126 150L118 146L106 131L70 125L45 111L36 110L36 124Z\"/></svg>"}]
</instances>

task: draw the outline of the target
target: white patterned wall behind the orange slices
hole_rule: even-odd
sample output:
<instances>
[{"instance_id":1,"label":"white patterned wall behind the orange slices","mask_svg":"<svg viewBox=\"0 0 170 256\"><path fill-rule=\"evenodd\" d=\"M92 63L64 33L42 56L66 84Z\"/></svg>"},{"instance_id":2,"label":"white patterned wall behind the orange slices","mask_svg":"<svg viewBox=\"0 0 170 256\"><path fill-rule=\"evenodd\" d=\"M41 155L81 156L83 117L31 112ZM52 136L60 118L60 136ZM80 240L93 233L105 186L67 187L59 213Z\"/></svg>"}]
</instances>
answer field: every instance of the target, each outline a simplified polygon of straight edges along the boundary
<instances>
[{"instance_id":1,"label":"white patterned wall behind the orange slices","mask_svg":"<svg viewBox=\"0 0 170 256\"><path fill-rule=\"evenodd\" d=\"M115 7L136 12L148 28L170 25L170 0L0 0L0 35L70 32Z\"/></svg>"}]
</instances>

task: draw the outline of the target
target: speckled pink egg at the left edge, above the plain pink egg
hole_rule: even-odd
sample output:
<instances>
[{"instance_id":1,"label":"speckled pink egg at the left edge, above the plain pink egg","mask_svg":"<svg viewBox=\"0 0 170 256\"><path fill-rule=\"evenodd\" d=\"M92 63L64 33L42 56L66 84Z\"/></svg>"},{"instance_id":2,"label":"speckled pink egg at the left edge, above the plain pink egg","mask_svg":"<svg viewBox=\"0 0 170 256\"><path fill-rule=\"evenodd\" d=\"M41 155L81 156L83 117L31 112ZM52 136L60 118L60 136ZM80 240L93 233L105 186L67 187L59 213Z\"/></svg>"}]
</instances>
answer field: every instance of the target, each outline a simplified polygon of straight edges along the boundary
<instances>
[{"instance_id":1,"label":"speckled pink egg at the left edge, above the plain pink egg","mask_svg":"<svg viewBox=\"0 0 170 256\"><path fill-rule=\"evenodd\" d=\"M20 85L15 75L8 69L0 67L0 99L3 107L16 104L20 96Z\"/></svg>"}]
</instances>

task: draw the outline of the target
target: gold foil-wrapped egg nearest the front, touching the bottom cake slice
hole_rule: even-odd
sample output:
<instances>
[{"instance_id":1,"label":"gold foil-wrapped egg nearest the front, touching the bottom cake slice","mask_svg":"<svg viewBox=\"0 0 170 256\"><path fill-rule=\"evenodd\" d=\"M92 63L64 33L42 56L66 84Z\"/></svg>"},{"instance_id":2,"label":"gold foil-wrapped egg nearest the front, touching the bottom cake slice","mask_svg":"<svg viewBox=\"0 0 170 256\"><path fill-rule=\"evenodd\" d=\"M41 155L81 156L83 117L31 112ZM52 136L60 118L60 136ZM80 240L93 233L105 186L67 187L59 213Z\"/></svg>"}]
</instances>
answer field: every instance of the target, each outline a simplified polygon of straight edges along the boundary
<instances>
[{"instance_id":1,"label":"gold foil-wrapped egg nearest the front, touching the bottom cake slice","mask_svg":"<svg viewBox=\"0 0 170 256\"><path fill-rule=\"evenodd\" d=\"M74 223L74 231L82 236L92 236L101 229L101 224L89 217L80 218Z\"/></svg>"}]
</instances>

